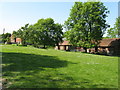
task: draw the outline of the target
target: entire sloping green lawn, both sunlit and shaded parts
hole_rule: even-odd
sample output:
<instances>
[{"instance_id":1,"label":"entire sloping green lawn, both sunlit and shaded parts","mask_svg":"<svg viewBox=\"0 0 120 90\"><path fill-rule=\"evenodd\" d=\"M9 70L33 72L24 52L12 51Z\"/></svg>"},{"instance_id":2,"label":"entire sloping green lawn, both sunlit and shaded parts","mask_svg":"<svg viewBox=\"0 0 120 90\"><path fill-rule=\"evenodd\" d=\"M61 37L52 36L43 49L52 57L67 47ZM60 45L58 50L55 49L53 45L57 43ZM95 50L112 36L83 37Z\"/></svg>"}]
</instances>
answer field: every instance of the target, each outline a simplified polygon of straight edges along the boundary
<instances>
[{"instance_id":1,"label":"entire sloping green lawn, both sunlit and shaded parts","mask_svg":"<svg viewBox=\"0 0 120 90\"><path fill-rule=\"evenodd\" d=\"M5 45L7 88L117 88L118 57Z\"/></svg>"}]
</instances>

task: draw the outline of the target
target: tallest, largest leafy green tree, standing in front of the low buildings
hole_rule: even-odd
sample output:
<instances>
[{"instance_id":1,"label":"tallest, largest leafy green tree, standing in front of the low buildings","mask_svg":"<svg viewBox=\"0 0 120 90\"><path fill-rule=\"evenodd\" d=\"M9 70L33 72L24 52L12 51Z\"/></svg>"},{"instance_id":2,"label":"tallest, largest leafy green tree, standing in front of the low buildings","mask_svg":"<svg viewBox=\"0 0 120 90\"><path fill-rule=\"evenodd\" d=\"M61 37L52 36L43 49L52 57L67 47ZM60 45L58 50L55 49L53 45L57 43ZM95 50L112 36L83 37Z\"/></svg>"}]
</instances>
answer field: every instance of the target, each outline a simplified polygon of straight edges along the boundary
<instances>
[{"instance_id":1,"label":"tallest, largest leafy green tree, standing in front of the low buildings","mask_svg":"<svg viewBox=\"0 0 120 90\"><path fill-rule=\"evenodd\" d=\"M105 18L109 11L102 2L75 2L65 21L65 37L75 46L96 47L109 27Z\"/></svg>"}]
</instances>

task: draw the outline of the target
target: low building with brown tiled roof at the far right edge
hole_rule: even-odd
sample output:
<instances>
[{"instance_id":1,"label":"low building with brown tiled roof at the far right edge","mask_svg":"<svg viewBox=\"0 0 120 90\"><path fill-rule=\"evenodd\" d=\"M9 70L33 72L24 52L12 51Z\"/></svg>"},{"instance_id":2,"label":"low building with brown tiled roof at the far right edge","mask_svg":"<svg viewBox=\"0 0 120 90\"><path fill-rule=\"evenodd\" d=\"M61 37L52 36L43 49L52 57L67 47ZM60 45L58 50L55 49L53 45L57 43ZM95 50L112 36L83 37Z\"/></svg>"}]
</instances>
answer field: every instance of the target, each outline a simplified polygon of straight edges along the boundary
<instances>
[{"instance_id":1,"label":"low building with brown tiled roof at the far right edge","mask_svg":"<svg viewBox=\"0 0 120 90\"><path fill-rule=\"evenodd\" d=\"M102 39L98 45L98 52L108 55L120 54L120 38Z\"/></svg>"}]
</instances>

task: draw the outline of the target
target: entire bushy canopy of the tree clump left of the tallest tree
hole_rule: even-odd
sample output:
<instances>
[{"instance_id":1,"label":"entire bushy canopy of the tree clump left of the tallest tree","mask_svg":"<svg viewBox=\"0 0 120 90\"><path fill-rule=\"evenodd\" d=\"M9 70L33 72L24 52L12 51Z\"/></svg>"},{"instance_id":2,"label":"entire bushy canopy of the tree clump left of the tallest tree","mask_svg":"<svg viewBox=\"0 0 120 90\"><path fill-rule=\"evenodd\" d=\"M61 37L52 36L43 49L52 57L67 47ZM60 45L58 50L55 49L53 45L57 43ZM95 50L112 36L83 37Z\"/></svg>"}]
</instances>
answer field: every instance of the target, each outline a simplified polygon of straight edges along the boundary
<instances>
[{"instance_id":1,"label":"entire bushy canopy of the tree clump left of the tallest tree","mask_svg":"<svg viewBox=\"0 0 120 90\"><path fill-rule=\"evenodd\" d=\"M20 37L23 44L28 42L34 46L44 45L45 47L46 45L58 45L59 42L62 42L62 29L62 25L55 24L52 18L42 18L33 25L26 24L17 32L14 31L13 34Z\"/></svg>"}]
</instances>

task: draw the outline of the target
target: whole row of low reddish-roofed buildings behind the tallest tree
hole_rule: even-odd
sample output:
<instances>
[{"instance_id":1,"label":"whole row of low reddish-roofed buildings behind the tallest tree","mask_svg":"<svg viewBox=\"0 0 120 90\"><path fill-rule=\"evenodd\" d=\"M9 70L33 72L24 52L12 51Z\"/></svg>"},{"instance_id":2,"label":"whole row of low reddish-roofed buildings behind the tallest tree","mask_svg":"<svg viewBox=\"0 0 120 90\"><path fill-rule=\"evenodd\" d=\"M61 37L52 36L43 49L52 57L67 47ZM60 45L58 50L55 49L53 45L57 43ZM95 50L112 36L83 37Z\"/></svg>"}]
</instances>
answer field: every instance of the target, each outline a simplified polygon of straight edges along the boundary
<instances>
[{"instance_id":1,"label":"whole row of low reddish-roofed buildings behind the tallest tree","mask_svg":"<svg viewBox=\"0 0 120 90\"><path fill-rule=\"evenodd\" d=\"M58 49L58 46L55 47ZM75 47L69 43L69 41L63 41L63 43L59 43L60 50L66 51L84 51L82 47ZM107 55L118 55L120 54L120 38L112 38L112 39L102 39L100 44L97 46L97 51L100 54ZM96 53L95 48L87 49L88 53Z\"/></svg>"}]
</instances>

